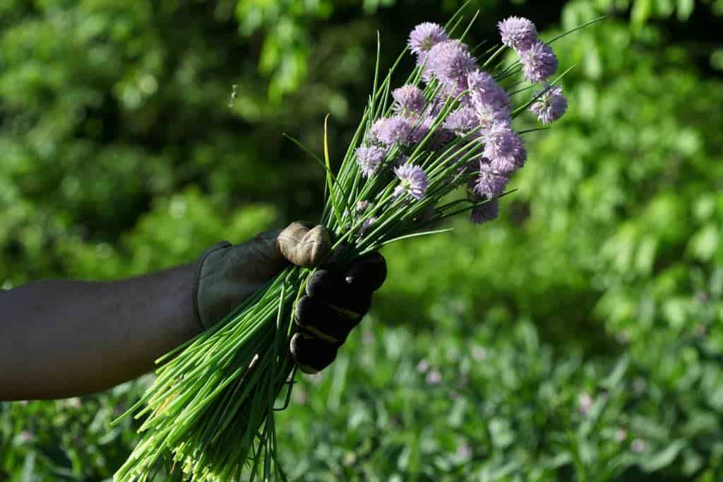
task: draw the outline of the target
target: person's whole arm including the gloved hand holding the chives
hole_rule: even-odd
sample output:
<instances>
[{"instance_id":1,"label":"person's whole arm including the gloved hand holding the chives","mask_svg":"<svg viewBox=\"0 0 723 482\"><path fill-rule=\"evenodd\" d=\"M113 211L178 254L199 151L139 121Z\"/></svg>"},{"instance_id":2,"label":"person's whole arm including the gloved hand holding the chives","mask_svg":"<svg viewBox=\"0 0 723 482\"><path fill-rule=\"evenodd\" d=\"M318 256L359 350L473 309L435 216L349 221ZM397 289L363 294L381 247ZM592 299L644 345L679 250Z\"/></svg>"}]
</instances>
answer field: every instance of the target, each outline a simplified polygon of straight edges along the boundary
<instances>
[{"instance_id":1,"label":"person's whole arm including the gloved hand holding the chives","mask_svg":"<svg viewBox=\"0 0 723 482\"><path fill-rule=\"evenodd\" d=\"M293 223L241 245L219 243L198 263L147 276L45 281L0 292L0 400L72 397L133 379L213 326L289 263L316 266L329 248L323 228ZM369 272L371 282L364 276ZM307 287L307 297L315 300L300 303L307 309L296 313L300 333L291 343L302 371L331 363L385 276L380 255L315 276ZM323 289L331 280L343 289ZM312 293L317 285L322 289ZM328 330L333 339L321 339Z\"/></svg>"}]
</instances>

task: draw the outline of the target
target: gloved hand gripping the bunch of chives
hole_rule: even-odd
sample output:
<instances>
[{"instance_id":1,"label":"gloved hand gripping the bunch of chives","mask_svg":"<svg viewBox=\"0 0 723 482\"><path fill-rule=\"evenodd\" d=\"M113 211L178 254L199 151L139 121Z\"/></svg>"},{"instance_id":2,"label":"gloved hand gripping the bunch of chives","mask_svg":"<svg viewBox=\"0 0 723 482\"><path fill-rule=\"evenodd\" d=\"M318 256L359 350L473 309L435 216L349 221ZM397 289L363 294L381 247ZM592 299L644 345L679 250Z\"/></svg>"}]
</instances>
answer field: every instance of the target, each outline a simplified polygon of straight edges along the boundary
<instances>
[{"instance_id":1,"label":"gloved hand gripping the bunch of chives","mask_svg":"<svg viewBox=\"0 0 723 482\"><path fill-rule=\"evenodd\" d=\"M330 248L324 227L309 229L299 222L281 232L258 234L241 245L219 242L201 256L196 269L194 308L200 323L210 328L288 263L312 268L327 257ZM328 272L320 270L312 276L307 296L296 307L294 320L301 332L291 339L291 354L305 373L315 373L333 361L348 332L369 310L372 291L386 277L386 265L374 253L353 263L344 276L322 274ZM339 289L328 289L329 282L339 279Z\"/></svg>"}]
</instances>

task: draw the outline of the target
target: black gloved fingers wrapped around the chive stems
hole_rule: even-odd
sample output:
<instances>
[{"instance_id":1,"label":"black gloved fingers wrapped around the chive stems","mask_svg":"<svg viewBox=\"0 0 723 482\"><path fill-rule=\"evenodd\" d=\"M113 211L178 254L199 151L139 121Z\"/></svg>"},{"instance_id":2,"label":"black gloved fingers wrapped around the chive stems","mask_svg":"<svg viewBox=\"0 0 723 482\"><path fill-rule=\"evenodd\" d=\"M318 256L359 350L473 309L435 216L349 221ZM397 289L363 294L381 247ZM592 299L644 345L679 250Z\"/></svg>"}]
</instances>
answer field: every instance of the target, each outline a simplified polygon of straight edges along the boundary
<instances>
[{"instance_id":1,"label":"black gloved fingers wrapped around the chive stems","mask_svg":"<svg viewBox=\"0 0 723 482\"><path fill-rule=\"evenodd\" d=\"M387 277L387 263L369 253L348 268L320 269L296 303L291 355L304 373L317 373L336 358L338 348L372 305L372 293Z\"/></svg>"}]
</instances>

